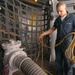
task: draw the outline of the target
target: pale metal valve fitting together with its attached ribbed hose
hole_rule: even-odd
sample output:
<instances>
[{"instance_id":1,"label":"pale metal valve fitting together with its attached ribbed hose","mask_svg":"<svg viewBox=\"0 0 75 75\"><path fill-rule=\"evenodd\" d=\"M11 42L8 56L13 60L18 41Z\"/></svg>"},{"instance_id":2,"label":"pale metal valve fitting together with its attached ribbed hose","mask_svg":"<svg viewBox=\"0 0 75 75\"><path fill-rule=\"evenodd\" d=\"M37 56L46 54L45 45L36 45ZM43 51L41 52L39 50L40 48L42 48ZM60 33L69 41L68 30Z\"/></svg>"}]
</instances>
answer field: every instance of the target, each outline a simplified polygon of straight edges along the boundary
<instances>
[{"instance_id":1,"label":"pale metal valve fitting together with its attached ribbed hose","mask_svg":"<svg viewBox=\"0 0 75 75\"><path fill-rule=\"evenodd\" d=\"M25 75L47 75L27 54L20 48L21 41L10 40L2 44L4 65L8 65L9 75L18 69Z\"/></svg>"}]
</instances>

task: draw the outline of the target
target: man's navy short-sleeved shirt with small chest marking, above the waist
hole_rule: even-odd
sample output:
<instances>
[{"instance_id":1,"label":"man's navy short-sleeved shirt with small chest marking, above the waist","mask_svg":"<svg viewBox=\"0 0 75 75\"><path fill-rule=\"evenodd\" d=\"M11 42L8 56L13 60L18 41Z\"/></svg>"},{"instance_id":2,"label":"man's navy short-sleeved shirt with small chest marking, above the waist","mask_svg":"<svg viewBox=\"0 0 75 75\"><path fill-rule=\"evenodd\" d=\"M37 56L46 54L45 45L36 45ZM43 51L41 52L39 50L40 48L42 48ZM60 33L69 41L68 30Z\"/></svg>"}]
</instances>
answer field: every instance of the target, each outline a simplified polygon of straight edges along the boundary
<instances>
[{"instance_id":1,"label":"man's navy short-sleeved shirt with small chest marking, above the waist","mask_svg":"<svg viewBox=\"0 0 75 75\"><path fill-rule=\"evenodd\" d=\"M75 31L75 15L68 13L68 15L61 20L59 16L54 22L54 27L57 28L57 43L61 41L67 34ZM72 36L69 36L65 39L65 42L72 39Z\"/></svg>"}]
</instances>

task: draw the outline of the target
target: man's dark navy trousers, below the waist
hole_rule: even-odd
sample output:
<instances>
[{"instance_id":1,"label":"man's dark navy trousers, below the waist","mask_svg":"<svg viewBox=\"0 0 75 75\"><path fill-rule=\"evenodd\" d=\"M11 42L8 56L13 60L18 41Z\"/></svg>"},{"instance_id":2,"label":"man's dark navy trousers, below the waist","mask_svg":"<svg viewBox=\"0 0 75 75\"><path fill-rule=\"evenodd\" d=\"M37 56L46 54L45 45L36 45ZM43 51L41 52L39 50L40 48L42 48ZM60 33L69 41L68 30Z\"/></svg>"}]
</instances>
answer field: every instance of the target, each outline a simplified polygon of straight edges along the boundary
<instances>
[{"instance_id":1,"label":"man's dark navy trousers, below the waist","mask_svg":"<svg viewBox=\"0 0 75 75\"><path fill-rule=\"evenodd\" d=\"M65 56L66 46L60 45L55 48L56 53L56 75L68 75L71 62Z\"/></svg>"}]
</instances>

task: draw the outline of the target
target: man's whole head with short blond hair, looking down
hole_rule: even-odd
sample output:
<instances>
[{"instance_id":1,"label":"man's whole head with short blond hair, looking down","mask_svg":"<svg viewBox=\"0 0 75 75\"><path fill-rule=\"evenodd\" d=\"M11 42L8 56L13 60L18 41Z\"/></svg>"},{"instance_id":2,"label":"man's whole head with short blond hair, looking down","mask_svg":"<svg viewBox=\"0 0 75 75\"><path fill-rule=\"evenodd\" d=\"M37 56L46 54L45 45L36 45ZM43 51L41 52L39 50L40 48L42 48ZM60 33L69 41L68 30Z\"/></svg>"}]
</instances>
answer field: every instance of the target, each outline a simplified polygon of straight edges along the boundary
<instances>
[{"instance_id":1,"label":"man's whole head with short blond hair, looking down","mask_svg":"<svg viewBox=\"0 0 75 75\"><path fill-rule=\"evenodd\" d=\"M57 13L59 16L61 16L61 17L66 16L67 15L66 9L67 9L67 7L66 7L65 3L63 3L63 2L57 3L56 10L57 10Z\"/></svg>"}]
</instances>

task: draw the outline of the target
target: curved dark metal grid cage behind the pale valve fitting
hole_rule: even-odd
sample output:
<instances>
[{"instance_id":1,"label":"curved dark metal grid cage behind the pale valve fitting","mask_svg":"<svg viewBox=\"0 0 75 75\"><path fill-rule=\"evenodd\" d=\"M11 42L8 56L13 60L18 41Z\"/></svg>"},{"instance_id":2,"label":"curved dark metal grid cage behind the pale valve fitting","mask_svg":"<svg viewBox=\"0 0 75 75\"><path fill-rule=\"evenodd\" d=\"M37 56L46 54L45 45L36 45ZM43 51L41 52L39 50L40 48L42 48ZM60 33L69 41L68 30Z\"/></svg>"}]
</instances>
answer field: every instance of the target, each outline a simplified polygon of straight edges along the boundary
<instances>
[{"instance_id":1,"label":"curved dark metal grid cage behind the pale valve fitting","mask_svg":"<svg viewBox=\"0 0 75 75\"><path fill-rule=\"evenodd\" d=\"M21 40L25 52L35 61L39 50L38 36L50 28L49 14L48 6L46 9L21 0L1 0L0 40Z\"/></svg>"}]
</instances>

